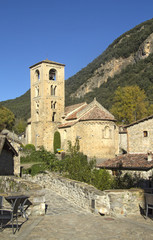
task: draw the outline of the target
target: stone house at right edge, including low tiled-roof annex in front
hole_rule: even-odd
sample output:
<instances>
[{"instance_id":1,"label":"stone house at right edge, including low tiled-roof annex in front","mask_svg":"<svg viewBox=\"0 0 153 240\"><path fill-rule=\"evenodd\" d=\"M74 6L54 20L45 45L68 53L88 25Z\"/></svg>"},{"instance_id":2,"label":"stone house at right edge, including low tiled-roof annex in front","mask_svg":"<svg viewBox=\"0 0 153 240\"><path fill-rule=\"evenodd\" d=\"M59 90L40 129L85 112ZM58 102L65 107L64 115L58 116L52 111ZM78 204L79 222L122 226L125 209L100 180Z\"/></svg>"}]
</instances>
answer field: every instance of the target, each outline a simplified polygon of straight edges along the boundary
<instances>
[{"instance_id":1,"label":"stone house at right edge, including low tiled-roof annex in front","mask_svg":"<svg viewBox=\"0 0 153 240\"><path fill-rule=\"evenodd\" d=\"M135 174L142 179L153 177L153 115L140 119L119 129L120 154L108 159L98 168L111 170L113 175L118 171ZM123 154L124 153L124 154Z\"/></svg>"}]
</instances>

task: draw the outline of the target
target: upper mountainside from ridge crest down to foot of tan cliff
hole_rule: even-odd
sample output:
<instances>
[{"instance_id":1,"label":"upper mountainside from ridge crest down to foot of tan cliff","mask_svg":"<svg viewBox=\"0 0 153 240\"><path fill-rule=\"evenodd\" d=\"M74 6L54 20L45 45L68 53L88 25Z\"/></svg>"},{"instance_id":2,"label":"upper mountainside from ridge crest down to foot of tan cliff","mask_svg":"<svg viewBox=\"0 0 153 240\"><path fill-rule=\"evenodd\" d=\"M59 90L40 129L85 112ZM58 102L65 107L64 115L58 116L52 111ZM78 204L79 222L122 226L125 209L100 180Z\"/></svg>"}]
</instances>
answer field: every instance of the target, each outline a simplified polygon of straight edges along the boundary
<instances>
[{"instance_id":1,"label":"upper mountainside from ridge crest down to foot of tan cliff","mask_svg":"<svg viewBox=\"0 0 153 240\"><path fill-rule=\"evenodd\" d=\"M117 38L99 57L66 81L67 95L83 97L120 73L129 64L137 63L153 52L153 19L136 26Z\"/></svg>"}]
</instances>

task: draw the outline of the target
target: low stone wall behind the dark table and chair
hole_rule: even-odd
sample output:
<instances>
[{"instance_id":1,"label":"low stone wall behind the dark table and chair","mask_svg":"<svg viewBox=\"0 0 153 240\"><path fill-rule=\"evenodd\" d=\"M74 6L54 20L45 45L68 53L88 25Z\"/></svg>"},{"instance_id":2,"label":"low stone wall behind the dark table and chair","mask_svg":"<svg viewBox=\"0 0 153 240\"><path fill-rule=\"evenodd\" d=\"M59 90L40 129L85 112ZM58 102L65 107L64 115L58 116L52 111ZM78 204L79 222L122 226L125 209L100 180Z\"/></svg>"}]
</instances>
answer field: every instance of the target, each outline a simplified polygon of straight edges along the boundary
<instances>
[{"instance_id":1,"label":"low stone wall behind the dark table and chair","mask_svg":"<svg viewBox=\"0 0 153 240\"><path fill-rule=\"evenodd\" d=\"M29 196L31 205L27 210L28 215L45 214L45 191L37 183L16 177L0 177L0 195L4 196L4 206L9 206L6 196Z\"/></svg>"}]
</instances>

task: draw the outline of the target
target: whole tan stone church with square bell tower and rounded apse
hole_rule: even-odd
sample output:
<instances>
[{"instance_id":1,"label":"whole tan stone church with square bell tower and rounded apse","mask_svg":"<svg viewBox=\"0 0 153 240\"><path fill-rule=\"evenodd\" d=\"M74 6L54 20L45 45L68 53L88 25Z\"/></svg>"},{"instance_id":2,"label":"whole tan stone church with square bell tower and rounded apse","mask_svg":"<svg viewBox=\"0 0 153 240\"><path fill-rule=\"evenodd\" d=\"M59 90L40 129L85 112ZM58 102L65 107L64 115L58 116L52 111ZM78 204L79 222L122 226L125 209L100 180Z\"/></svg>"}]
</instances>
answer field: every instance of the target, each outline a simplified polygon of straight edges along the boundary
<instances>
[{"instance_id":1,"label":"whole tan stone church with square bell tower and rounded apse","mask_svg":"<svg viewBox=\"0 0 153 240\"><path fill-rule=\"evenodd\" d=\"M61 136L61 148L79 139L80 150L98 161L119 153L119 130L114 116L96 99L90 104L65 107L65 65L48 59L30 67L31 119L26 130L27 143L44 146L53 152L55 131Z\"/></svg>"}]
</instances>

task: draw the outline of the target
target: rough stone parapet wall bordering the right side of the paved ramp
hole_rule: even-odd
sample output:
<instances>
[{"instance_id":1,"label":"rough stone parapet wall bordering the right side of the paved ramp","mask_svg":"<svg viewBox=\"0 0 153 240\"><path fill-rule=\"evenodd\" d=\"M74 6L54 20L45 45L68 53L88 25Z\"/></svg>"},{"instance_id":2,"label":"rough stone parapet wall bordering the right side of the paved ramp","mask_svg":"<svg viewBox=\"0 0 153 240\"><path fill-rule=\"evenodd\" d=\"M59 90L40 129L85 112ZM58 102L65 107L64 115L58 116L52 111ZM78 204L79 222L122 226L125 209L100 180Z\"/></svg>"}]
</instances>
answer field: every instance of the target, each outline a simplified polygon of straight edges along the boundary
<instances>
[{"instance_id":1,"label":"rough stone parapet wall bordering the right side of the paved ramp","mask_svg":"<svg viewBox=\"0 0 153 240\"><path fill-rule=\"evenodd\" d=\"M66 179L55 173L24 177L40 184L43 188L56 191L87 211L111 216L128 216L138 215L140 209L144 208L142 189L100 191L91 185Z\"/></svg>"}]
</instances>

